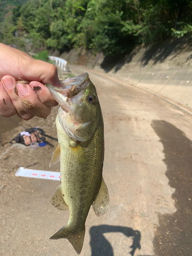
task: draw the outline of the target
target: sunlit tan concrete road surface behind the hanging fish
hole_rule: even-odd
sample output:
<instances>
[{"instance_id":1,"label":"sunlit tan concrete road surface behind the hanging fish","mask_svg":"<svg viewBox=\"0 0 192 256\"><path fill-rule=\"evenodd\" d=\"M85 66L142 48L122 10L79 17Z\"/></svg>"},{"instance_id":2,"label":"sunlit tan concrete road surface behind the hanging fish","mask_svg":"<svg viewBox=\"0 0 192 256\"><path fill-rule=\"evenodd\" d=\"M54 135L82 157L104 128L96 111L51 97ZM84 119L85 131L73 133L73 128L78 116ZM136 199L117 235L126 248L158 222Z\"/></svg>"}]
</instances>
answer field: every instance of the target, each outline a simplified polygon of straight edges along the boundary
<instances>
[{"instance_id":1,"label":"sunlit tan concrete road surface behind the hanging fish","mask_svg":"<svg viewBox=\"0 0 192 256\"><path fill-rule=\"evenodd\" d=\"M97 88L110 194L104 216L90 209L81 256L192 255L192 116L111 75L70 68L88 72ZM39 154L35 168L48 170L50 157ZM67 240L49 240L69 216L50 204L59 182L15 170L0 190L0 255L75 256Z\"/></svg>"}]
</instances>

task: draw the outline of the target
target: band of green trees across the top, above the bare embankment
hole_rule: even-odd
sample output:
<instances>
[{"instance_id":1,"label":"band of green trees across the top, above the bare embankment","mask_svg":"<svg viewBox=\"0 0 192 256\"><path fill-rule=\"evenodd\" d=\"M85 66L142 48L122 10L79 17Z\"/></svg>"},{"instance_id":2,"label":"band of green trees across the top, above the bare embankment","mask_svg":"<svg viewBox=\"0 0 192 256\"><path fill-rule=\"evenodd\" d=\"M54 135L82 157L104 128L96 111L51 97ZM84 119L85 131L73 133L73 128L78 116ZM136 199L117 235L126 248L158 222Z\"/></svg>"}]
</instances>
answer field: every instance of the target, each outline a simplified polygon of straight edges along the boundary
<instances>
[{"instance_id":1,"label":"band of green trees across the top, above the bare embankment","mask_svg":"<svg viewBox=\"0 0 192 256\"><path fill-rule=\"evenodd\" d=\"M8 3L15 5L10 12L6 9ZM1 20L0 40L18 48L32 44L62 52L83 46L113 56L133 44L191 36L192 2L0 0Z\"/></svg>"}]
</instances>

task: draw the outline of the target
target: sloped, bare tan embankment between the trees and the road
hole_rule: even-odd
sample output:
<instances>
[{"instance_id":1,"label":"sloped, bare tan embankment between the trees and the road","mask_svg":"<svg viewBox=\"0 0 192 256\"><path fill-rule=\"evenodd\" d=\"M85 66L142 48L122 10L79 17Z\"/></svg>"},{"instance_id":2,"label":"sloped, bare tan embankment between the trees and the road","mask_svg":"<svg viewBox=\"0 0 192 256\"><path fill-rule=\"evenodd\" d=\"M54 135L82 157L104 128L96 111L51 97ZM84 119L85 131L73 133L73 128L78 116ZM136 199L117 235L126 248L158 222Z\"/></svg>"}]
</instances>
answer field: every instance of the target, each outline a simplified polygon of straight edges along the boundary
<instances>
[{"instance_id":1,"label":"sloped, bare tan embankment between the trees and the road","mask_svg":"<svg viewBox=\"0 0 192 256\"><path fill-rule=\"evenodd\" d=\"M54 51L50 55L59 56L59 53ZM192 110L192 44L189 40L140 45L113 58L105 58L102 53L94 55L83 48L63 52L60 57L73 65L115 75Z\"/></svg>"}]
</instances>

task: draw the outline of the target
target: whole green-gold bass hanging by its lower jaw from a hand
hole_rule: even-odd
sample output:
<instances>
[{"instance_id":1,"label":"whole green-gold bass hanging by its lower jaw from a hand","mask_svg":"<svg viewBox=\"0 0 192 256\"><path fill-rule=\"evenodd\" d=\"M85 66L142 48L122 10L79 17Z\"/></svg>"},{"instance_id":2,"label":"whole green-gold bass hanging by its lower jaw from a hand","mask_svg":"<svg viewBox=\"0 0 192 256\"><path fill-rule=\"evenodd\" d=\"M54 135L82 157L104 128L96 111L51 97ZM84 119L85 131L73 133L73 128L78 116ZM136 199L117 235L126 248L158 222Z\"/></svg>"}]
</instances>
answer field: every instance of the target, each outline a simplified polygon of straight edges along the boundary
<instances>
[{"instance_id":1,"label":"whole green-gold bass hanging by its lower jaw from a hand","mask_svg":"<svg viewBox=\"0 0 192 256\"><path fill-rule=\"evenodd\" d=\"M60 186L51 198L59 210L70 211L69 220L50 239L66 238L80 254L91 205L96 216L109 208L109 192L102 178L104 125L94 84L88 73L61 81L61 88L46 84L58 102L50 167L60 161Z\"/></svg>"}]
</instances>

